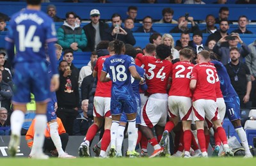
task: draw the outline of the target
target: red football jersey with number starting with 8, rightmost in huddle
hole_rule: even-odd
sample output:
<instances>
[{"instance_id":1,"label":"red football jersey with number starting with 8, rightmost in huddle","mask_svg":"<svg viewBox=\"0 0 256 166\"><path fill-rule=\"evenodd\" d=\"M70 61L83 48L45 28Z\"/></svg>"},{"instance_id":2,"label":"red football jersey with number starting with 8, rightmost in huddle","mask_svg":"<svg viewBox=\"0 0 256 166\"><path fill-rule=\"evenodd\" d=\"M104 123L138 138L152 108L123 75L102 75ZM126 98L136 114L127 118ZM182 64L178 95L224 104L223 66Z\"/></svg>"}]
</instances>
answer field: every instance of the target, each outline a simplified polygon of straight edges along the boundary
<instances>
[{"instance_id":1,"label":"red football jersey with number starting with 8, rightmost in huddle","mask_svg":"<svg viewBox=\"0 0 256 166\"><path fill-rule=\"evenodd\" d=\"M198 99L216 101L216 68L211 63L196 64L192 69L191 80L196 80L193 102Z\"/></svg>"}]
</instances>

